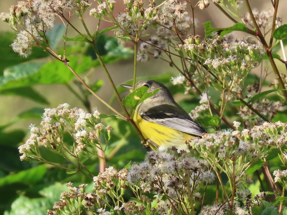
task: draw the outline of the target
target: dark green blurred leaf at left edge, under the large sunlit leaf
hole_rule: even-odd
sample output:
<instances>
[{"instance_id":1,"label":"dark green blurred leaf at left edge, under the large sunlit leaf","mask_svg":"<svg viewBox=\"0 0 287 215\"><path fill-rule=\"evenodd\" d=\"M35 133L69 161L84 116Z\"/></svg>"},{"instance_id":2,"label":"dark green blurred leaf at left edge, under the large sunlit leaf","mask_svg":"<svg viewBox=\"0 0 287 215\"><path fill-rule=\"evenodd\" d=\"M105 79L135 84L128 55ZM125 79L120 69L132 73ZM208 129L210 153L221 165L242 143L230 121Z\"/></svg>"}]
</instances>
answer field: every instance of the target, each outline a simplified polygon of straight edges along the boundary
<instances>
[{"instance_id":1,"label":"dark green blurred leaf at left edge, under the large sunlit leaf","mask_svg":"<svg viewBox=\"0 0 287 215\"><path fill-rule=\"evenodd\" d=\"M49 102L40 95L37 91L35 91L32 87L18 87L12 89L0 89L1 95L14 95L14 96L22 96L38 103L42 103L48 105Z\"/></svg>"}]
</instances>

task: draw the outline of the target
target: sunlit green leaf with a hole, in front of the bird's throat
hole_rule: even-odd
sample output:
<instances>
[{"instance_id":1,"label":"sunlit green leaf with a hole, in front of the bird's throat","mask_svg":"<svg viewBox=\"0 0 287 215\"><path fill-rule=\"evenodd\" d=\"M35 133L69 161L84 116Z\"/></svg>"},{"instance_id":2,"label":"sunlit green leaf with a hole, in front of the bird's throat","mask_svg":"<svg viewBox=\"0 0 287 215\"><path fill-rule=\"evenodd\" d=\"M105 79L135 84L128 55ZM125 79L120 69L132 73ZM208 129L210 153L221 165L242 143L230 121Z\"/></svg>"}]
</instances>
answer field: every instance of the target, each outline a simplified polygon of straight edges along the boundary
<instances>
[{"instance_id":1,"label":"sunlit green leaf with a hole, in front of the bird's throat","mask_svg":"<svg viewBox=\"0 0 287 215\"><path fill-rule=\"evenodd\" d=\"M154 90L153 92L147 93L149 89L150 88L146 86L141 86L135 89L123 99L122 101L123 105L130 108L135 108L139 103L141 103L148 97L151 97L152 95L156 94L160 88Z\"/></svg>"}]
</instances>

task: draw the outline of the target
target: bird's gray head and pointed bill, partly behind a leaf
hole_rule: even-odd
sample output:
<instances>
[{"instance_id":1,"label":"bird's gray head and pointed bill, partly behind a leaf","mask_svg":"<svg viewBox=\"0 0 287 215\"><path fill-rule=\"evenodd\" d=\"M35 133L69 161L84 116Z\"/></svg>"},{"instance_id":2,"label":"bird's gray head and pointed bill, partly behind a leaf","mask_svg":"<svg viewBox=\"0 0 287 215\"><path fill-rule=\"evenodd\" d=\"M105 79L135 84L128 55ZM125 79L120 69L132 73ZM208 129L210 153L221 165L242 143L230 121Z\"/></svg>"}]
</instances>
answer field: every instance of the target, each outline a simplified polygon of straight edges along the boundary
<instances>
[{"instance_id":1,"label":"bird's gray head and pointed bill, partly behind a leaf","mask_svg":"<svg viewBox=\"0 0 287 215\"><path fill-rule=\"evenodd\" d=\"M133 89L132 85L121 84L121 86L125 87L129 90ZM164 86L164 84L162 84L160 82L153 81L153 80L142 80L142 81L135 83L135 89L137 89L141 86L146 86L146 87L150 88L147 92L153 92L154 90L160 88L155 95L150 97L151 99L156 98L156 97L173 99L170 90L166 86Z\"/></svg>"}]
</instances>

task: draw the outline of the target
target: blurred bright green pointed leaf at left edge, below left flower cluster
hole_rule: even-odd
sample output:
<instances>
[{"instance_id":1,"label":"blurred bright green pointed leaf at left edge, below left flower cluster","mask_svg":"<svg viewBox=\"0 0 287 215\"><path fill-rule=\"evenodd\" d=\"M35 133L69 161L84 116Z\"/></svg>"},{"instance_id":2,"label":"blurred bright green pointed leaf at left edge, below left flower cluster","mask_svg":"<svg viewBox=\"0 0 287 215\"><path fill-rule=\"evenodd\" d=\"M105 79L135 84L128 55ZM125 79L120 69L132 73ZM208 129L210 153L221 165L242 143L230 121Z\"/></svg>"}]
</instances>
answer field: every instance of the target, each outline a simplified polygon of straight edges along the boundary
<instances>
[{"instance_id":1,"label":"blurred bright green pointed leaf at left edge, below left flower cluster","mask_svg":"<svg viewBox=\"0 0 287 215\"><path fill-rule=\"evenodd\" d=\"M36 184L43 179L46 171L45 165L39 165L28 170L20 171L14 175L7 175L0 179L0 186L12 183Z\"/></svg>"}]
</instances>

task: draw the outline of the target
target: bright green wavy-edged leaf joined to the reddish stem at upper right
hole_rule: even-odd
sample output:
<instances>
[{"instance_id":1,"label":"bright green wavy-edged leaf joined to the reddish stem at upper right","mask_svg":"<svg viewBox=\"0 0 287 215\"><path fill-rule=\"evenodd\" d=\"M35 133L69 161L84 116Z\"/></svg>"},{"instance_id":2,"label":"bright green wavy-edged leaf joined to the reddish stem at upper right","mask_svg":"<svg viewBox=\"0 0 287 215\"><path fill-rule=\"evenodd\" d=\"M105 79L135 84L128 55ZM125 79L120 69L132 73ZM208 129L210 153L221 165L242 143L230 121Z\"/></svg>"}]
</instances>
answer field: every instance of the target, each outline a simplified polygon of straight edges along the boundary
<instances>
[{"instance_id":1,"label":"bright green wavy-edged leaf joined to the reddish stem at upper right","mask_svg":"<svg viewBox=\"0 0 287 215\"><path fill-rule=\"evenodd\" d=\"M224 36L225 34L229 34L232 31L242 31L242 32L248 33L248 30L247 30L245 24L243 24L243 23L236 23L235 25L233 25L231 27L227 27L227 28L213 28L211 26L211 24L212 24L211 21L203 23L203 26L205 28L205 39L211 38L212 32L218 32L220 34L220 36Z\"/></svg>"}]
</instances>

